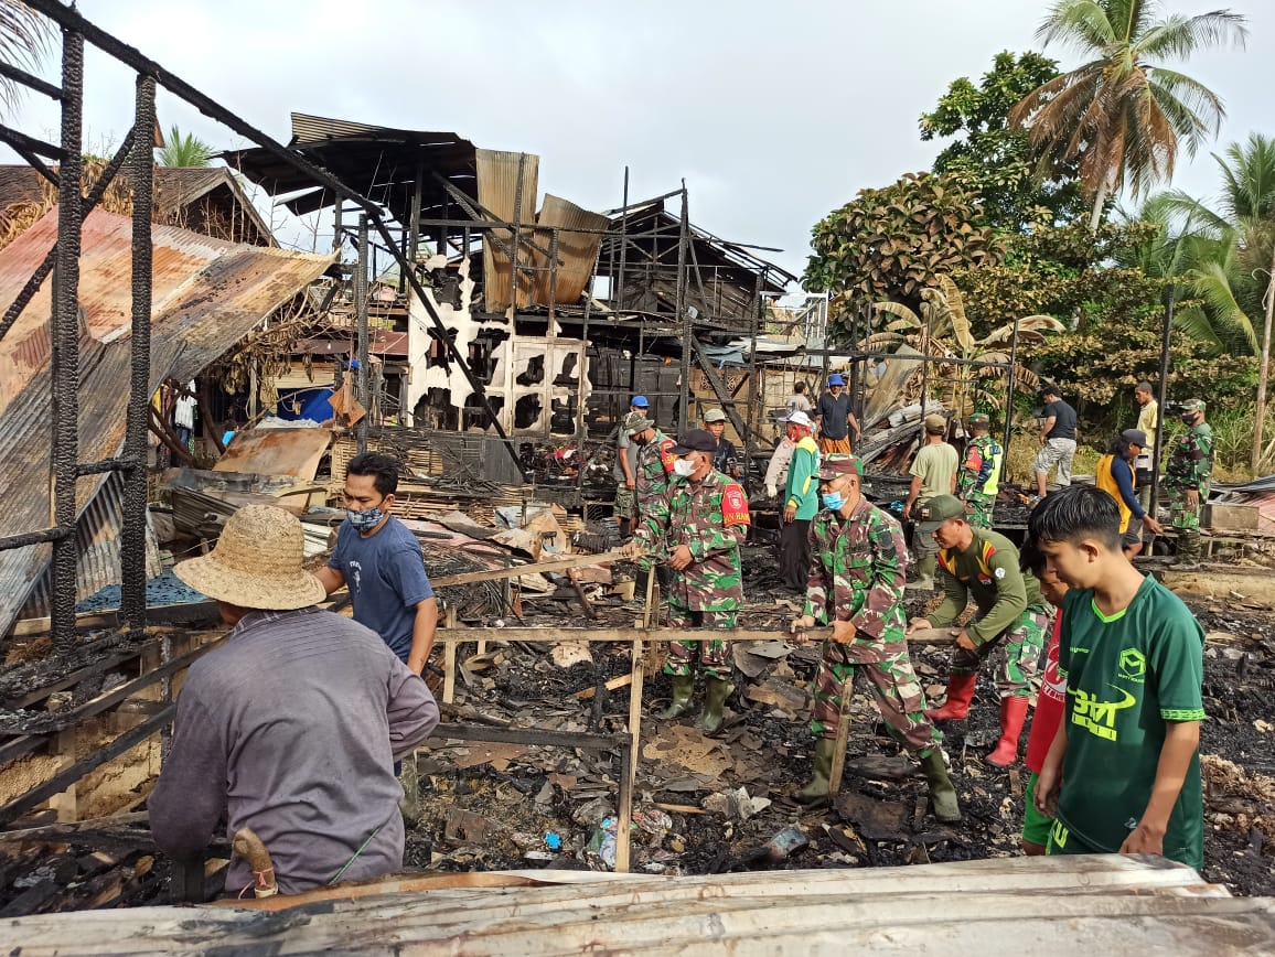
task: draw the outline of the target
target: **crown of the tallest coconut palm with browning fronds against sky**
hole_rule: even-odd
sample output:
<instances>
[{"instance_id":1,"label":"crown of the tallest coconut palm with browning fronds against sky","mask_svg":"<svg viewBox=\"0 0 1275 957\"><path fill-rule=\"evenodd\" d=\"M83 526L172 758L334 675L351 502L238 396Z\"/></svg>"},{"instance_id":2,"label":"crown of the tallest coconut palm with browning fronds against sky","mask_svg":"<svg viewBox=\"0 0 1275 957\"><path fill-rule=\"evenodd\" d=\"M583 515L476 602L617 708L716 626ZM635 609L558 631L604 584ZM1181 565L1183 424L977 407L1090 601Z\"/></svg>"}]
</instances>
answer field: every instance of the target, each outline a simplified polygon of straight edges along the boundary
<instances>
[{"instance_id":1,"label":"crown of the tallest coconut palm with browning fronds against sky","mask_svg":"<svg viewBox=\"0 0 1275 957\"><path fill-rule=\"evenodd\" d=\"M1232 42L1244 18L1230 10L1158 17L1155 0L1057 0L1037 37L1076 47L1086 62L1040 85L1010 112L1043 161L1080 161L1093 196L1090 232L1122 186L1136 198L1173 176L1178 147L1195 155L1227 111L1216 93L1164 62Z\"/></svg>"}]
</instances>

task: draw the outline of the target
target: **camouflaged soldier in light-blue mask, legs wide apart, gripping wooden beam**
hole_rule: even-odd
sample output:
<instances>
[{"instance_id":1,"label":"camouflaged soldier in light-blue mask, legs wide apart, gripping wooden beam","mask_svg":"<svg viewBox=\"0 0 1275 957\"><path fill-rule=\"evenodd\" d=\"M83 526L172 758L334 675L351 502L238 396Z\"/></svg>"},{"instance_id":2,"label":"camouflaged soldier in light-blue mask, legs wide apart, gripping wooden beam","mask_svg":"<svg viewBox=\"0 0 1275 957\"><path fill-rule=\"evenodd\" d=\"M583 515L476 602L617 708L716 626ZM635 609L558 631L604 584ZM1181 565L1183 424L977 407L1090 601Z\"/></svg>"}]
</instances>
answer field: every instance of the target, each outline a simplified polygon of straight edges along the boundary
<instances>
[{"instance_id":1,"label":"camouflaged soldier in light-blue mask, legs wide apart, gripping wooden beam","mask_svg":"<svg viewBox=\"0 0 1275 957\"><path fill-rule=\"evenodd\" d=\"M813 777L793 796L810 804L829 796L841 698L853 691L854 669L868 675L881 717L904 747L921 758L940 821L960 821L947 779L942 735L926 717L908 642L903 584L908 547L899 522L862 494L863 465L853 455L829 455L819 470L822 510L810 526L811 568L806 607L792 630L831 624L815 687L811 730Z\"/></svg>"}]
</instances>

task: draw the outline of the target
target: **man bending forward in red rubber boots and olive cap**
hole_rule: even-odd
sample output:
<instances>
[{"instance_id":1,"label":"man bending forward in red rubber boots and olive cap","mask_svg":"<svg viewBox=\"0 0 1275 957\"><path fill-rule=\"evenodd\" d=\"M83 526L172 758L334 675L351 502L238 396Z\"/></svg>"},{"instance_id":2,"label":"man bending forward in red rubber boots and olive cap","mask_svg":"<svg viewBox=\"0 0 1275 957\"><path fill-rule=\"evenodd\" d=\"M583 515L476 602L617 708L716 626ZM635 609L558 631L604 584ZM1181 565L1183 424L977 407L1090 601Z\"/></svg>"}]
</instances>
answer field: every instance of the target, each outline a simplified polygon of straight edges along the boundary
<instances>
[{"instance_id":1,"label":"man bending forward in red rubber boots and olive cap","mask_svg":"<svg viewBox=\"0 0 1275 957\"><path fill-rule=\"evenodd\" d=\"M996 656L996 687L1001 696L1001 740L988 763L1009 767L1019 756L1019 738L1031 693L1039 684L1044 638L1053 627L1053 609L1040 595L1040 582L1019 568L1019 550L1005 535L975 529L955 496L938 496L922 508L921 534L938 543L938 582L943 603L917 628L945 628L965 612L970 599L978 614L956 637L947 702L926 714L935 720L961 721L969 716L978 668Z\"/></svg>"}]
</instances>

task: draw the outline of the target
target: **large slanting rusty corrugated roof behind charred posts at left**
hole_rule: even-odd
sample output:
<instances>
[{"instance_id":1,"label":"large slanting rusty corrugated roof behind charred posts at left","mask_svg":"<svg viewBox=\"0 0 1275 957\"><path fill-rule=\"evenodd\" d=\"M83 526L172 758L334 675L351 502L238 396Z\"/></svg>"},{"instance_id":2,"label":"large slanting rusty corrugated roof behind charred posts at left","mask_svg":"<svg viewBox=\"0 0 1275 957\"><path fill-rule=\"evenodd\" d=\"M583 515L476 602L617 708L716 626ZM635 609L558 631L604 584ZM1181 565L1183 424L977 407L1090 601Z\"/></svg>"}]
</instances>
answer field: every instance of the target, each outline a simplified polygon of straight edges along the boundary
<instances>
[{"instance_id":1,"label":"large slanting rusty corrugated roof behind charred posts at left","mask_svg":"<svg viewBox=\"0 0 1275 957\"><path fill-rule=\"evenodd\" d=\"M131 326L131 220L94 210L84 222L80 303L87 331L80 356L80 461L117 455L125 428ZM0 250L0 302L13 302L57 237L50 212ZM224 242L168 226L153 231L150 387L166 376L193 378L300 288L332 255ZM0 535L42 529L50 516L52 446L47 352L50 285L0 340L0 484L8 489ZM101 477L80 479L80 508ZM48 563L50 545L0 552L0 633Z\"/></svg>"}]
</instances>

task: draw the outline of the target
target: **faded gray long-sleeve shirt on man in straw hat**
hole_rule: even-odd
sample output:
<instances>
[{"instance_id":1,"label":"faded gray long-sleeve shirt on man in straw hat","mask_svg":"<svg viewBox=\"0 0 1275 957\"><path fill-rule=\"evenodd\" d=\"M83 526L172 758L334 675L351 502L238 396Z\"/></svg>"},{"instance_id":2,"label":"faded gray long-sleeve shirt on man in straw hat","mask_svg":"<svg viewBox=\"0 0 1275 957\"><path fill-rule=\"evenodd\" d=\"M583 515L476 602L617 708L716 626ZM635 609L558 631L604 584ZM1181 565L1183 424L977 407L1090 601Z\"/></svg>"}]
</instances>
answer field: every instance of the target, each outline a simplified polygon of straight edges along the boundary
<instances>
[{"instance_id":1,"label":"faded gray long-sleeve shirt on man in straw hat","mask_svg":"<svg viewBox=\"0 0 1275 957\"><path fill-rule=\"evenodd\" d=\"M150 795L161 850L184 856L251 827L283 893L403 865L394 758L425 740L439 707L374 631L319 608L250 612L191 665L172 753ZM377 831L377 828L380 828ZM227 889L252 881L231 863Z\"/></svg>"}]
</instances>

